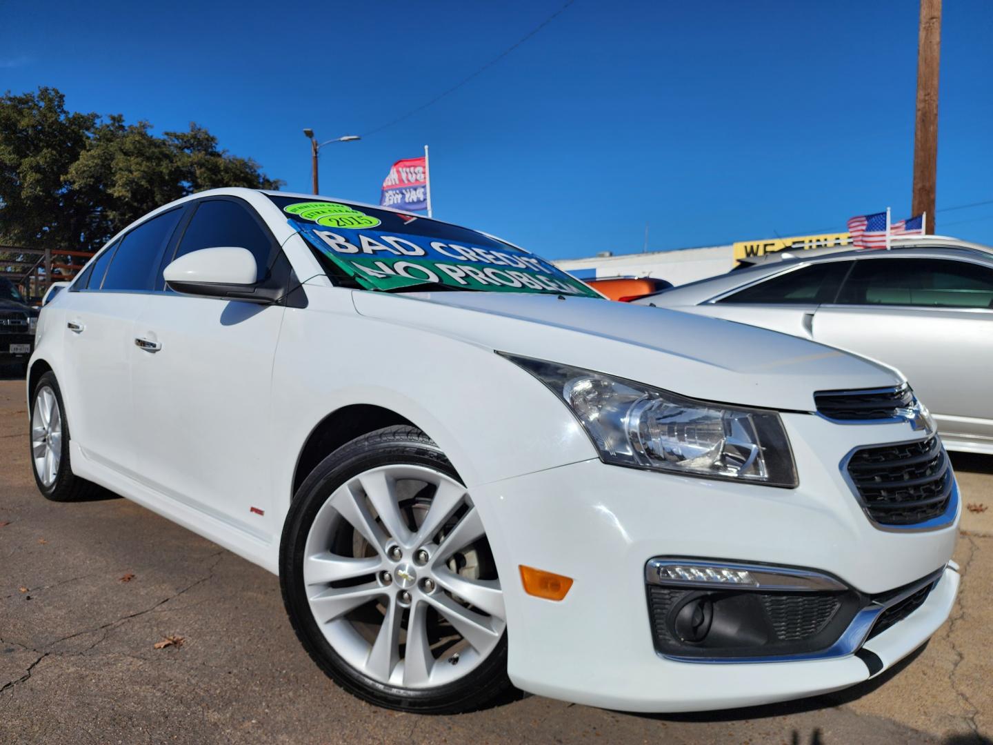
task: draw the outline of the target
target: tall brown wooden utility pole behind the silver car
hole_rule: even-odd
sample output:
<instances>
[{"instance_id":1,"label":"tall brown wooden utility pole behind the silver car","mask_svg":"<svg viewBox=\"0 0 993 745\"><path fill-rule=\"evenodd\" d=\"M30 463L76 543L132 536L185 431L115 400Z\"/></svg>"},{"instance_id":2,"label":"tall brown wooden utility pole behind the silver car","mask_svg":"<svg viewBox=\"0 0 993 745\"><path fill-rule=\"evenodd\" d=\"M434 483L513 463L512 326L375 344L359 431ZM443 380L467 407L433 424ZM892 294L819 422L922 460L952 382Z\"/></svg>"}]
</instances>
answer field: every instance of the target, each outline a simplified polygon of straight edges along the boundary
<instances>
[{"instance_id":1,"label":"tall brown wooden utility pole behind the silver car","mask_svg":"<svg viewBox=\"0 0 993 745\"><path fill-rule=\"evenodd\" d=\"M921 0L918 36L918 110L914 129L914 196L911 215L927 214L934 230L937 181L937 72L941 55L941 0Z\"/></svg>"}]
</instances>

